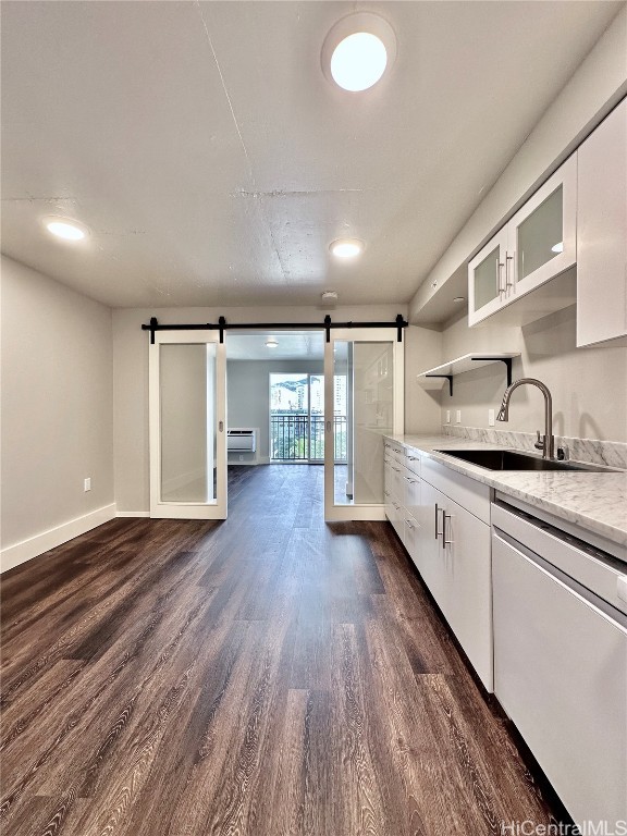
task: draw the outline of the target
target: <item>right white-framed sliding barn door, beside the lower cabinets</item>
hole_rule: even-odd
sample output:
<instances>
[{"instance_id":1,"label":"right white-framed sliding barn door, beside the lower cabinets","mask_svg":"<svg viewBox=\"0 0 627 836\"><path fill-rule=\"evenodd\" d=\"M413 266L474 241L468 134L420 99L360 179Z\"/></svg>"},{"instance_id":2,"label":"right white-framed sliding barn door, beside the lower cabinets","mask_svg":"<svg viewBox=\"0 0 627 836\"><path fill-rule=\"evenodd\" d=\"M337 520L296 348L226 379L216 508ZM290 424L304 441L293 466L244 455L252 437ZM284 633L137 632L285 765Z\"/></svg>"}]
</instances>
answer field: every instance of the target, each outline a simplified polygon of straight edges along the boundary
<instances>
[{"instance_id":1,"label":"right white-framed sliding barn door, beside the lower cabinets","mask_svg":"<svg viewBox=\"0 0 627 836\"><path fill-rule=\"evenodd\" d=\"M404 431L396 328L333 329L324 347L324 518L385 519L383 439Z\"/></svg>"}]
</instances>

